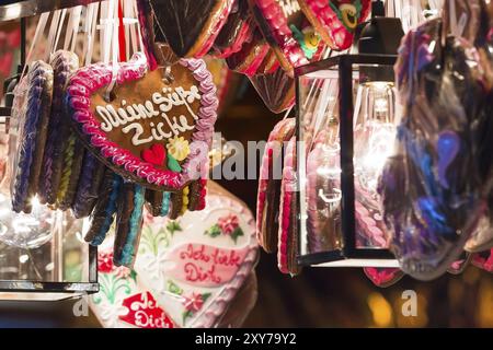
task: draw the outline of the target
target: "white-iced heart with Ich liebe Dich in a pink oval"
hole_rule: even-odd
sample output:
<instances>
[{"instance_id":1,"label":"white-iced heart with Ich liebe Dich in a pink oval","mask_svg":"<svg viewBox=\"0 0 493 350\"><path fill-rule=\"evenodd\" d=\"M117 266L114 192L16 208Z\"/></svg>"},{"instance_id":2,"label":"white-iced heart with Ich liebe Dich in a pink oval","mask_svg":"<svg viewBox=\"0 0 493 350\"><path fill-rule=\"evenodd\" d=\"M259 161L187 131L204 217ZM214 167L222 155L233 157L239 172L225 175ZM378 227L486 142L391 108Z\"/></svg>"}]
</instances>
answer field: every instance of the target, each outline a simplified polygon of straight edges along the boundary
<instances>
[{"instance_id":1,"label":"white-iced heart with Ich liebe Dich in a pink oval","mask_svg":"<svg viewBox=\"0 0 493 350\"><path fill-rule=\"evenodd\" d=\"M203 211L147 218L135 262L142 284L177 327L217 324L256 261L254 219L209 183Z\"/></svg>"}]
</instances>

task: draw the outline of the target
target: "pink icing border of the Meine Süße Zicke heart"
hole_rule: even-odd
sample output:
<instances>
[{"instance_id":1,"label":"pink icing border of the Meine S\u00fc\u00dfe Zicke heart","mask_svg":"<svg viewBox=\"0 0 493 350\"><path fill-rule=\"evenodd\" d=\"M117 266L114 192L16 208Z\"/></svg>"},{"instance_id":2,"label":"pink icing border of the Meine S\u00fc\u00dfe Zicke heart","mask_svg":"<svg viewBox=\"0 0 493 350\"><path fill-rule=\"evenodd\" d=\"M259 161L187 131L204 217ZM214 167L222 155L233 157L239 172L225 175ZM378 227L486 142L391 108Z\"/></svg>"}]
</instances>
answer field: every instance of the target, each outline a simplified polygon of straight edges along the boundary
<instances>
[{"instance_id":1,"label":"pink icing border of the Meine S\u00fc\u00dfe Zicke heart","mask_svg":"<svg viewBox=\"0 0 493 350\"><path fill-rule=\"evenodd\" d=\"M203 93L198 110L199 119L192 136L191 149L194 150L204 142L210 147L214 124L217 119L216 110L219 105L213 77L203 60L182 59L180 63L193 72L194 78L199 82L199 91ZM138 52L134 55L130 61L119 65L116 82L117 84L123 84L140 79L146 74L147 70L146 56L142 52ZM98 149L102 156L111 159L113 164L124 167L125 171L152 185L172 189L183 187L193 179L191 173L195 170L192 168L194 165L192 160L199 158L199 162L195 163L195 165L204 164L208 162L208 156L202 153L207 152L191 154L183 164L182 173L173 173L156 168L152 164L144 162L130 151L124 150L117 143L108 140L106 133L101 130L100 122L90 110L90 97L95 91L110 84L111 81L112 68L104 63L84 67L70 79L67 88L67 102L73 120L80 125L82 132L90 138L91 145ZM203 176L204 174L200 175Z\"/></svg>"}]
</instances>

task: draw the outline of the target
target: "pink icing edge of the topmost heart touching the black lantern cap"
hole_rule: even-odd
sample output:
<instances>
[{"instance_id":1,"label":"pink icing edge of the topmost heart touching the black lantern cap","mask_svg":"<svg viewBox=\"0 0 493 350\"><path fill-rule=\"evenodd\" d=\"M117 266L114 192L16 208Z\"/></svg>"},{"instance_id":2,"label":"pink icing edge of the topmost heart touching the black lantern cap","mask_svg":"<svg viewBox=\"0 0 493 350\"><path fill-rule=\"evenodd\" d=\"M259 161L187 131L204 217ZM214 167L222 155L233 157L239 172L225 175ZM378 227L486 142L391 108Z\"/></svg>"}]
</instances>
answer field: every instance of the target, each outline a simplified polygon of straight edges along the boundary
<instances>
[{"instance_id":1,"label":"pink icing edge of the topmost heart touching the black lantern cap","mask_svg":"<svg viewBox=\"0 0 493 350\"><path fill-rule=\"evenodd\" d=\"M332 44L335 45L334 49L344 50L347 49L354 39L354 34L346 30L344 24L341 23L335 12L329 5L329 1L320 1L320 0L301 0L306 3L306 8L310 10L311 15L317 19L320 23L320 26L323 27L324 34L326 34ZM358 19L358 23L364 22L369 14L370 11L370 2L369 0L360 0L362 1L362 16ZM353 3L347 2L347 3ZM329 43L328 43L329 44Z\"/></svg>"}]
</instances>

